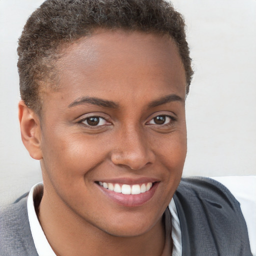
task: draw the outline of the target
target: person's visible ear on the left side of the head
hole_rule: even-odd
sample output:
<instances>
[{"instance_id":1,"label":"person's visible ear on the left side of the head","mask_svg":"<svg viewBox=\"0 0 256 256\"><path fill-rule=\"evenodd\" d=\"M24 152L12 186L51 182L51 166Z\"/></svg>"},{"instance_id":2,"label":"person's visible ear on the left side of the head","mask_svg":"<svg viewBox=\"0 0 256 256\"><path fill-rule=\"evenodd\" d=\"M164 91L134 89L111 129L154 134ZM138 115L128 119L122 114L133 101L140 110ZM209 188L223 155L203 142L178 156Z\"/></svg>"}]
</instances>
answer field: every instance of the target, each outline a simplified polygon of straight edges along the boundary
<instances>
[{"instance_id":1,"label":"person's visible ear on the left side of the head","mask_svg":"<svg viewBox=\"0 0 256 256\"><path fill-rule=\"evenodd\" d=\"M18 103L18 118L21 139L30 156L36 160L42 158L41 127L38 115L23 100Z\"/></svg>"}]
</instances>

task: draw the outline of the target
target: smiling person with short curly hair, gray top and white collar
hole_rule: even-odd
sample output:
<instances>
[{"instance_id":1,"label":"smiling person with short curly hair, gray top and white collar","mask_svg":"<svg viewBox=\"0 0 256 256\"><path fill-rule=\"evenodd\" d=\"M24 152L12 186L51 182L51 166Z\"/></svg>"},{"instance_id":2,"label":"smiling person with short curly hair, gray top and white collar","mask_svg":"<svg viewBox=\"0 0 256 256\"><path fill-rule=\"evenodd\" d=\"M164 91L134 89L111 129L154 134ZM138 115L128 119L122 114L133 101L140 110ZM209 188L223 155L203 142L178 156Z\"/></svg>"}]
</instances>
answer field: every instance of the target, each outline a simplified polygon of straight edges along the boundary
<instances>
[{"instance_id":1,"label":"smiling person with short curly hair, gray top and white collar","mask_svg":"<svg viewBox=\"0 0 256 256\"><path fill-rule=\"evenodd\" d=\"M192 69L169 3L46 0L18 55L43 185L1 214L2 255L251 255L231 193L180 181Z\"/></svg>"}]
</instances>

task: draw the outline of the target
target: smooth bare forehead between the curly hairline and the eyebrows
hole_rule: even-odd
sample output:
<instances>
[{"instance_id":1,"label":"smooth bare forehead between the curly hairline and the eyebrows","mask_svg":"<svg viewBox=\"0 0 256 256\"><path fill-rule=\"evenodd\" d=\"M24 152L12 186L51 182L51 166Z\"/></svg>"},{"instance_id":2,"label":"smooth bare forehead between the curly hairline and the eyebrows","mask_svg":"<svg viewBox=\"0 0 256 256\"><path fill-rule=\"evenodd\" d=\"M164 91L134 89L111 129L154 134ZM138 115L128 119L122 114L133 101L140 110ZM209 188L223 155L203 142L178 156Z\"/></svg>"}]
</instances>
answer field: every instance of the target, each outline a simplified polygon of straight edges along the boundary
<instances>
[{"instance_id":1,"label":"smooth bare forehead between the curly hairline and the eyebrows","mask_svg":"<svg viewBox=\"0 0 256 256\"><path fill-rule=\"evenodd\" d=\"M115 91L117 101L127 87L127 97L134 99L148 94L148 87L185 94L183 64L168 35L98 29L64 47L61 55L56 63L58 90L67 94L72 90L77 97L104 97L106 91Z\"/></svg>"}]
</instances>

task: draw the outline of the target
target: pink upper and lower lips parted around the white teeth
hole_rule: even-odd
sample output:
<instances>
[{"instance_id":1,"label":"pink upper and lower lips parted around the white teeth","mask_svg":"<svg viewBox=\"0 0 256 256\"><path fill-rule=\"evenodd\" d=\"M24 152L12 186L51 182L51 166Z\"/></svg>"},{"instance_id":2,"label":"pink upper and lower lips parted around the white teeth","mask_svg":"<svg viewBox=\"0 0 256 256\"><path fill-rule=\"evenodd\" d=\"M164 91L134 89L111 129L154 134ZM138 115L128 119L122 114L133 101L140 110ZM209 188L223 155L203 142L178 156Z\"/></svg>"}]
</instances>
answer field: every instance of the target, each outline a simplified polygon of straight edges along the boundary
<instances>
[{"instance_id":1,"label":"pink upper and lower lips parted around the white teeth","mask_svg":"<svg viewBox=\"0 0 256 256\"><path fill-rule=\"evenodd\" d=\"M159 184L159 182L156 182L155 179L152 179L152 178L139 178L139 179L135 179L135 180L127 179L127 178L110 179L110 180L104 179L104 180L102 180L102 182L128 184L128 185L142 184L142 183L147 183L147 182L153 183L152 187L148 191L146 191L144 193L140 193L140 194L117 193L117 192L111 191L107 188L104 188L103 186L100 186L97 182L94 183L97 186L97 188L105 196L107 196L108 199L110 199L111 201L113 201L121 206L125 206L125 207L137 207L137 206L141 206L144 203L146 203L147 201L149 201L153 197L153 195L158 187L158 184Z\"/></svg>"}]
</instances>

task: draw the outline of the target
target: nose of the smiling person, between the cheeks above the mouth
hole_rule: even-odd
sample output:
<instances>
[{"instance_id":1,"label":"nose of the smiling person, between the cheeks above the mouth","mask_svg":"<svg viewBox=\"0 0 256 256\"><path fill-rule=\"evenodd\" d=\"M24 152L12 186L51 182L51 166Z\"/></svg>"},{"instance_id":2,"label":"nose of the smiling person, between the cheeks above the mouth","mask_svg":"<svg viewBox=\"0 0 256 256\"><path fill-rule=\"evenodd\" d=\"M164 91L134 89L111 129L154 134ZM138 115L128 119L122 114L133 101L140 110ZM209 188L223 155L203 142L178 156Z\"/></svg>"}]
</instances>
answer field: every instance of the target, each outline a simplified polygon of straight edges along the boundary
<instances>
[{"instance_id":1,"label":"nose of the smiling person, between the cheeks above the mouth","mask_svg":"<svg viewBox=\"0 0 256 256\"><path fill-rule=\"evenodd\" d=\"M155 155L142 131L135 128L122 130L111 152L111 161L130 169L141 169L154 162Z\"/></svg>"}]
</instances>

